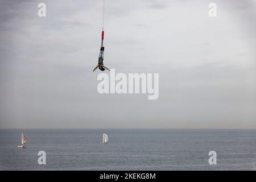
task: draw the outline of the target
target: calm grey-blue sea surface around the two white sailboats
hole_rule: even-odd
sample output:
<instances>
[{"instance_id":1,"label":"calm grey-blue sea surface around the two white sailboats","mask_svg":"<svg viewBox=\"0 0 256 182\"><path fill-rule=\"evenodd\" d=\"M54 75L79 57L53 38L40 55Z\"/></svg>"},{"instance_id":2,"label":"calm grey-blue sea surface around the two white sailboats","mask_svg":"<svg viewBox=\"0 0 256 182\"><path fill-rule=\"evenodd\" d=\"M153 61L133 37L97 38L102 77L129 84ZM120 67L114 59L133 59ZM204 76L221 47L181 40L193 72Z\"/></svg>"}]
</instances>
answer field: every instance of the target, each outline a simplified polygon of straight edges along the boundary
<instances>
[{"instance_id":1,"label":"calm grey-blue sea surface around the two white sailboats","mask_svg":"<svg viewBox=\"0 0 256 182\"><path fill-rule=\"evenodd\" d=\"M27 148L17 147L21 132ZM208 163L212 150L216 165ZM0 130L0 169L256 170L256 130Z\"/></svg>"}]
</instances>

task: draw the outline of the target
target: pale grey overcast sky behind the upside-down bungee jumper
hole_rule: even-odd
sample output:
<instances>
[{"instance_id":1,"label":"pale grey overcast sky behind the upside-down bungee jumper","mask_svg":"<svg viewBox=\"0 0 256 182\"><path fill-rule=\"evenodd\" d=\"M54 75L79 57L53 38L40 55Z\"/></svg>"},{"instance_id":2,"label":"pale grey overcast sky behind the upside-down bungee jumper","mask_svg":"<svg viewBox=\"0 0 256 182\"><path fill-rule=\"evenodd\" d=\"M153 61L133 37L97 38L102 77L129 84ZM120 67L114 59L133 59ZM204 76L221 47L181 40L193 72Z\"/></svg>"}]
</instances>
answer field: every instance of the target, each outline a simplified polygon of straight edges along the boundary
<instances>
[{"instance_id":1,"label":"pale grey overcast sky behind the upside-down bungee jumper","mask_svg":"<svg viewBox=\"0 0 256 182\"><path fill-rule=\"evenodd\" d=\"M102 0L0 0L0 129L256 129L255 9L105 0L104 64L159 73L159 98L147 100L97 92Z\"/></svg>"}]
</instances>

